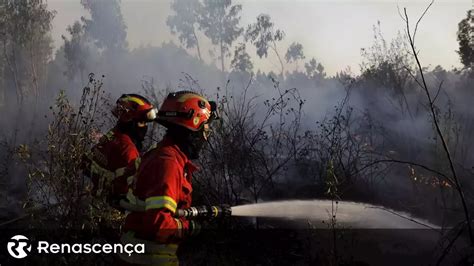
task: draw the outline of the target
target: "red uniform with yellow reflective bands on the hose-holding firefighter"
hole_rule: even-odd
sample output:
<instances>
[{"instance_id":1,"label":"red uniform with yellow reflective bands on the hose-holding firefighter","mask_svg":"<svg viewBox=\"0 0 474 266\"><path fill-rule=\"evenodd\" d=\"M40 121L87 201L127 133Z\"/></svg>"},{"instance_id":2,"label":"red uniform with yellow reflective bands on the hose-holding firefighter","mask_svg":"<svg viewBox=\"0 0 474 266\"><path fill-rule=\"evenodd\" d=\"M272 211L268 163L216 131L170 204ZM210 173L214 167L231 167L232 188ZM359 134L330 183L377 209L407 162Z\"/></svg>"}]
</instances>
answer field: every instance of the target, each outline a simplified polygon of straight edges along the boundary
<instances>
[{"instance_id":1,"label":"red uniform with yellow reflective bands on the hose-holding firefighter","mask_svg":"<svg viewBox=\"0 0 474 266\"><path fill-rule=\"evenodd\" d=\"M166 137L142 158L133 189L135 197L129 201L142 206L144 211L130 213L123 231L126 242L149 242L146 244L147 254L135 256L132 262L177 263L176 244L194 225L192 221L174 218L174 213L178 208L191 207L191 178L196 169L179 147Z\"/></svg>"}]
</instances>

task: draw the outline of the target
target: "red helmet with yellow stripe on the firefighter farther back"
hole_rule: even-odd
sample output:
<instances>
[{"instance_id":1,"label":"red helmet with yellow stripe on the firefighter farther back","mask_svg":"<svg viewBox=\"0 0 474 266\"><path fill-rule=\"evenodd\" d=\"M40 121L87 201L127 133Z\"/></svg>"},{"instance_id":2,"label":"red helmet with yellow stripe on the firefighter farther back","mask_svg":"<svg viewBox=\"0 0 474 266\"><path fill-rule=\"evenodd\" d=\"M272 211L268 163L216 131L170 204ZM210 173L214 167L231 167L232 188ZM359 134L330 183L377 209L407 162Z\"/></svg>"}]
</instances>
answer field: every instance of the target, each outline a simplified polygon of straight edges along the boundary
<instances>
[{"instance_id":1,"label":"red helmet with yellow stripe on the firefighter farther back","mask_svg":"<svg viewBox=\"0 0 474 266\"><path fill-rule=\"evenodd\" d=\"M123 94L118 98L112 114L120 122L151 122L156 119L157 110L145 97L138 94Z\"/></svg>"}]
</instances>

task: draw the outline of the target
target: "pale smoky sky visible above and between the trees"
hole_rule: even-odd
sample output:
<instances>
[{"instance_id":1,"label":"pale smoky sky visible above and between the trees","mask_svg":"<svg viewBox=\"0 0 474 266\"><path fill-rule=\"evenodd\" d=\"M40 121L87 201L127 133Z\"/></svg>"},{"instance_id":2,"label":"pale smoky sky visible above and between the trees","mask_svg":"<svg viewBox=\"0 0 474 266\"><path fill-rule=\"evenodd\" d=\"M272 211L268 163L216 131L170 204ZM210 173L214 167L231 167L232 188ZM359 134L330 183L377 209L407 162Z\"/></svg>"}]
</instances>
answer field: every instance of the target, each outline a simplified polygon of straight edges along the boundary
<instances>
[{"instance_id":1,"label":"pale smoky sky visible above and between the trees","mask_svg":"<svg viewBox=\"0 0 474 266\"><path fill-rule=\"evenodd\" d=\"M62 44L61 34L65 34L66 26L86 15L79 2L48 2L49 7L57 11L52 32L56 48ZM121 1L130 48L159 46L169 40L179 43L166 26L166 19L171 12L170 3L170 0ZM405 29L399 10L403 12L406 7L408 15L415 23L415 18L421 15L429 1L240 0L235 3L242 4L241 25L252 23L261 13L269 14L275 26L286 33L285 40L279 45L281 53L285 52L290 43L300 42L303 44L306 60L316 58L325 66L326 72L333 75L347 67L354 73L359 72L359 63L362 60L360 49L369 47L373 42L372 26L377 24L377 21L381 23L384 37L391 40L398 31L403 33ZM434 67L439 64L446 69L461 66L456 53L457 24L470 8L472 2L469 0L435 1L420 24L417 37L420 57L425 65ZM201 37L204 59L212 63L208 52L214 48L204 36ZM253 47L248 48L257 69L266 72L278 70L278 61L275 58L259 59ZM195 53L192 49L188 52ZM287 68L301 70L303 64L293 63Z\"/></svg>"}]
</instances>

